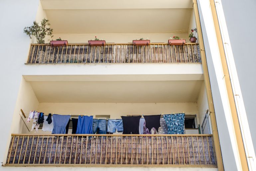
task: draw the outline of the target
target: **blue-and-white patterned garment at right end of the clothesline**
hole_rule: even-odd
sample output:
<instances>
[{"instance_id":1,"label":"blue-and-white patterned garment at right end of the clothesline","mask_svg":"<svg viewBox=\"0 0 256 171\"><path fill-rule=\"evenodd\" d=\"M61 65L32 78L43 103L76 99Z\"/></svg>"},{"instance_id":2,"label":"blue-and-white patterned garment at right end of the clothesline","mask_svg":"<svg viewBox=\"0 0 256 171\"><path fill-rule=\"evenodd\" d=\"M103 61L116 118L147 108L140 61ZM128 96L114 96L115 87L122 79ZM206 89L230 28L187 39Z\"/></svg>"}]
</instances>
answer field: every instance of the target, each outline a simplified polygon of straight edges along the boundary
<instances>
[{"instance_id":1,"label":"blue-and-white patterned garment at right end of the clothesline","mask_svg":"<svg viewBox=\"0 0 256 171\"><path fill-rule=\"evenodd\" d=\"M169 134L184 134L185 114L164 115Z\"/></svg>"}]
</instances>

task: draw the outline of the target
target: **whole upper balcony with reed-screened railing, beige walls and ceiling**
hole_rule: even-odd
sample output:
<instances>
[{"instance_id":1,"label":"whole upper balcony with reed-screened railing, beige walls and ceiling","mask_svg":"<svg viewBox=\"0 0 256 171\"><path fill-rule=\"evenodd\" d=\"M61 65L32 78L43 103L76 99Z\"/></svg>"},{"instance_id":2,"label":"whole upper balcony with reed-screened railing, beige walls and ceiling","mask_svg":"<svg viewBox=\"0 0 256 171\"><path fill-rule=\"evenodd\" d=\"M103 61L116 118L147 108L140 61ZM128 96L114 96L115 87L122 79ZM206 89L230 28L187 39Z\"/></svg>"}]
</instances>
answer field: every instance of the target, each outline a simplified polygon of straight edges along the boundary
<instances>
[{"instance_id":1,"label":"whole upper balcony with reed-screened railing, beige walls and ceiling","mask_svg":"<svg viewBox=\"0 0 256 171\"><path fill-rule=\"evenodd\" d=\"M190 43L191 29L196 28L192 1L154 3L141 0L111 1L41 0L36 21L46 18L53 29L47 44L32 44L26 64L51 63L200 63L199 44ZM104 4L104 5L102 5ZM94 36L106 41L104 46L90 46ZM186 40L170 45L174 36ZM194 33L197 37L197 34ZM51 46L61 38L67 46ZM148 45L135 46L134 39L149 38ZM154 43L155 42L155 43Z\"/></svg>"}]
</instances>

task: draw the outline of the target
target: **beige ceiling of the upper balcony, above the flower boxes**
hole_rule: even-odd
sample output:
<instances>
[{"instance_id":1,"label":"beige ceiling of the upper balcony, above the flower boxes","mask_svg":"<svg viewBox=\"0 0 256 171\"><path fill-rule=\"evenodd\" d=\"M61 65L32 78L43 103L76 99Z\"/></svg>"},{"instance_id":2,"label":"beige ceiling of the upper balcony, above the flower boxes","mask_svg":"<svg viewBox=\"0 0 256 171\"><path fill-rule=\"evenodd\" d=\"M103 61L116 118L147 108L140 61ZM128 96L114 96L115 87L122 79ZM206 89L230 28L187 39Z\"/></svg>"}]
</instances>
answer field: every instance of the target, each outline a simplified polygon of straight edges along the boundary
<instances>
[{"instance_id":1,"label":"beige ceiling of the upper balcony, above the flower boxes","mask_svg":"<svg viewBox=\"0 0 256 171\"><path fill-rule=\"evenodd\" d=\"M192 0L41 0L55 33L187 33Z\"/></svg>"}]
</instances>

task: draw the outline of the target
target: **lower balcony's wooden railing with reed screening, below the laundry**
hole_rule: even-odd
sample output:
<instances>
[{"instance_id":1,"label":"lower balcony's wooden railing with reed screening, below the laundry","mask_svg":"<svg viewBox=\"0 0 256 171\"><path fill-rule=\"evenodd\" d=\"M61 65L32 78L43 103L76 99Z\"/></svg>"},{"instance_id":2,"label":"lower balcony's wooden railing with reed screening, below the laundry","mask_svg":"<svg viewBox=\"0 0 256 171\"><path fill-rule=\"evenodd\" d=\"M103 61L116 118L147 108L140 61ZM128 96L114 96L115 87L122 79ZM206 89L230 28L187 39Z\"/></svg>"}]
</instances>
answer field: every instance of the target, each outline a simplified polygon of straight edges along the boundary
<instances>
[{"instance_id":1,"label":"lower balcony's wooden railing with reed screening, below the laundry","mask_svg":"<svg viewBox=\"0 0 256 171\"><path fill-rule=\"evenodd\" d=\"M12 134L6 166L216 166L210 134Z\"/></svg>"}]
</instances>

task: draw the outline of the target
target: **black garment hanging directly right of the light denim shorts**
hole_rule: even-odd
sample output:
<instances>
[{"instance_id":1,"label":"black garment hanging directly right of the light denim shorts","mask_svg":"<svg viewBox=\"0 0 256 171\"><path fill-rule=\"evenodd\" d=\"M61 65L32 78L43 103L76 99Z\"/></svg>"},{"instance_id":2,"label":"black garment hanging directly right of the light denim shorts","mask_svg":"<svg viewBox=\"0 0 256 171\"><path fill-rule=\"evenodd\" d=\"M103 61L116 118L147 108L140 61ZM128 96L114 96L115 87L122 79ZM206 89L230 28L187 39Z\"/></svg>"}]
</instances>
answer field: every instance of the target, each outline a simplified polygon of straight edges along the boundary
<instances>
[{"instance_id":1,"label":"black garment hanging directly right of the light denim shorts","mask_svg":"<svg viewBox=\"0 0 256 171\"><path fill-rule=\"evenodd\" d=\"M141 116L121 116L123 121L123 134L139 134Z\"/></svg>"}]
</instances>

